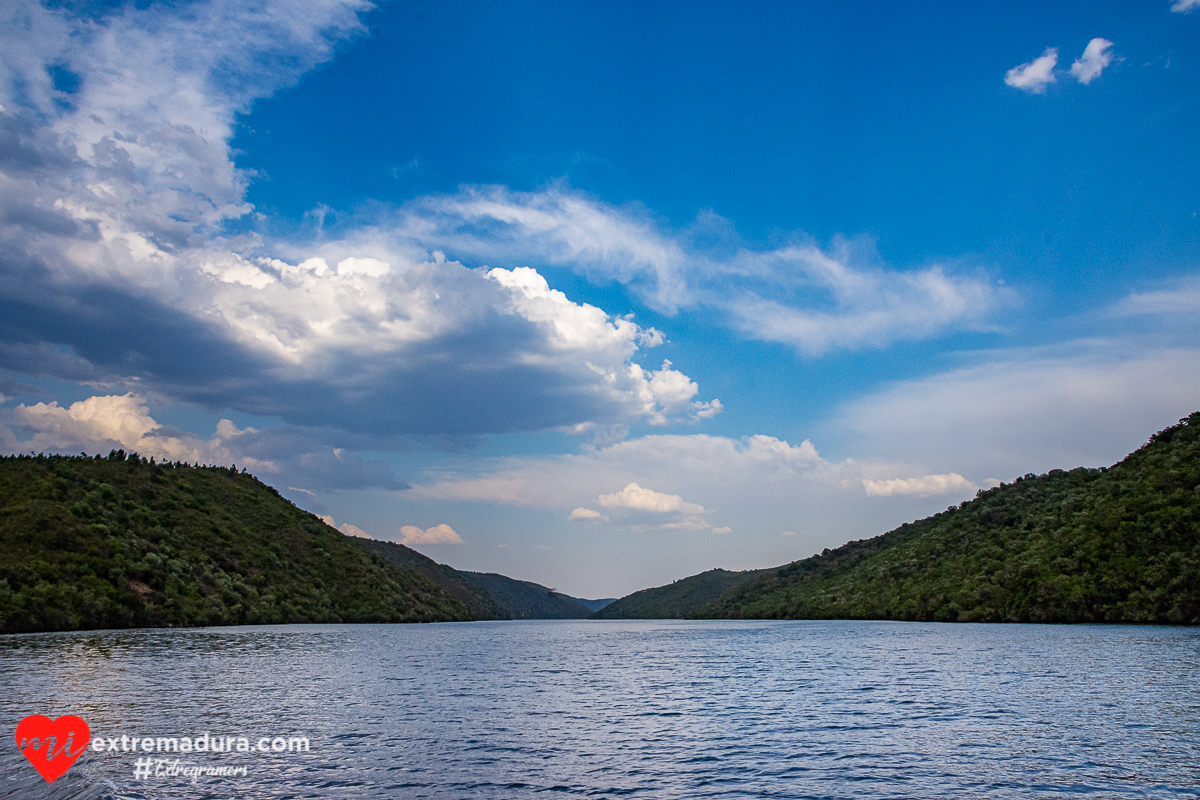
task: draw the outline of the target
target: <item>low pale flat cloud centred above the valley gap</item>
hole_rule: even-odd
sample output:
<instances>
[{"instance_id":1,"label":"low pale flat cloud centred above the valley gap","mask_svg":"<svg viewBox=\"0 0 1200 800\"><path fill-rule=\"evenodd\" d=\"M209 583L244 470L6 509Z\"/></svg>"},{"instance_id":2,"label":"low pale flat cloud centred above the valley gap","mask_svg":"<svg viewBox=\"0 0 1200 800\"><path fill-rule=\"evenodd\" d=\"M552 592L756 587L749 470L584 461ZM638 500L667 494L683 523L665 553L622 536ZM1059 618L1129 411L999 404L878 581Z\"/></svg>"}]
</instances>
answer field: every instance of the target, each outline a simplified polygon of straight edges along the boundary
<instances>
[{"instance_id":1,"label":"low pale flat cloud centred above the valley gap","mask_svg":"<svg viewBox=\"0 0 1200 800\"><path fill-rule=\"evenodd\" d=\"M580 455L478 464L479 471L472 475L431 473L406 497L551 509L586 507L599 497L612 515L613 531L713 530L708 516L715 507L722 516L744 521L731 537L775 541L779 530L803 522L820 530L822 543L839 545L846 541L836 541L841 536L882 533L905 521L898 515L910 513L863 504L862 479L875 474L864 475L858 463L830 463L808 440L793 445L767 435L661 434L589 447ZM872 465L892 474L904 468ZM598 487L612 486L624 488L598 495Z\"/></svg>"}]
</instances>

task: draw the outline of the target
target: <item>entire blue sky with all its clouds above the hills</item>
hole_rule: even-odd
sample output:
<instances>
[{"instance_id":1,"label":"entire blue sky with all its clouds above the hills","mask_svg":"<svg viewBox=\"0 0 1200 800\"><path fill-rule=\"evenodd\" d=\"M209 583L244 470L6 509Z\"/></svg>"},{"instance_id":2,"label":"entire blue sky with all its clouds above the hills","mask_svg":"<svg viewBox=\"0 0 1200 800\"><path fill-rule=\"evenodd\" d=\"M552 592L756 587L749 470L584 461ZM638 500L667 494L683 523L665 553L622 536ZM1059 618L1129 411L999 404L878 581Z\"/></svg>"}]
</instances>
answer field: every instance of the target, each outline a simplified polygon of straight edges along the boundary
<instances>
[{"instance_id":1,"label":"entire blue sky with all its clouds above the hills","mask_svg":"<svg viewBox=\"0 0 1200 800\"><path fill-rule=\"evenodd\" d=\"M622 596L1200 409L1200 1L0 8L0 450Z\"/></svg>"}]
</instances>

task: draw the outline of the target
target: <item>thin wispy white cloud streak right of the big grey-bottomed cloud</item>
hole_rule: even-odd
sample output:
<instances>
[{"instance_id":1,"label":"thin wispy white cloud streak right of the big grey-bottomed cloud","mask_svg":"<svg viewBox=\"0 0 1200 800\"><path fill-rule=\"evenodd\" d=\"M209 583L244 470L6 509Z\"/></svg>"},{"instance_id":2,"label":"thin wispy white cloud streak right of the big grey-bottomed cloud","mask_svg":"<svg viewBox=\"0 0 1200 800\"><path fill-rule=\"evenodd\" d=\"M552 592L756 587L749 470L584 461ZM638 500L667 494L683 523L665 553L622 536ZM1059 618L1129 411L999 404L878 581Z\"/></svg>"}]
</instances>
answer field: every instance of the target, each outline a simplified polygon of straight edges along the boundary
<instances>
[{"instance_id":1,"label":"thin wispy white cloud streak right of the big grey-bottomed cloud","mask_svg":"<svg viewBox=\"0 0 1200 800\"><path fill-rule=\"evenodd\" d=\"M976 327L1004 301L985 277L955 275L947 265L883 269L863 241L754 249L731 239L731 227L712 212L691 229L664 233L636 210L564 186L534 193L473 187L421 198L392 225L424 247L617 279L665 313L714 308L731 327L806 355ZM697 246L709 229L725 239Z\"/></svg>"}]
</instances>

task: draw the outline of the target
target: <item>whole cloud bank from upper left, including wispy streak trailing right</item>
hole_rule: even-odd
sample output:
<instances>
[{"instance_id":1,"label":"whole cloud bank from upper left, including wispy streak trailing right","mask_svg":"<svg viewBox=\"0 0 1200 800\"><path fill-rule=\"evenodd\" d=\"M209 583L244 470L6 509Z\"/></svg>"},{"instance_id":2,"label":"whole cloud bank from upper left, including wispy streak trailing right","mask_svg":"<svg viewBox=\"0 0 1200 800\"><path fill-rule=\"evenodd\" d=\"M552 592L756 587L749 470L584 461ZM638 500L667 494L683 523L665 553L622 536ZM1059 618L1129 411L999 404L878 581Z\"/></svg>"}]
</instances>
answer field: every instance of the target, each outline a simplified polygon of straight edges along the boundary
<instances>
[{"instance_id":1,"label":"whole cloud bank from upper left, including wispy streak trailing right","mask_svg":"<svg viewBox=\"0 0 1200 800\"><path fill-rule=\"evenodd\" d=\"M5 6L0 367L389 449L721 411L670 362L638 363L661 332L546 270L810 356L979 326L1000 300L984 276L888 269L852 242L701 245L715 215L670 231L564 186L419 198L334 240L233 233L254 218L236 114L331 58L366 7Z\"/></svg>"}]
</instances>

